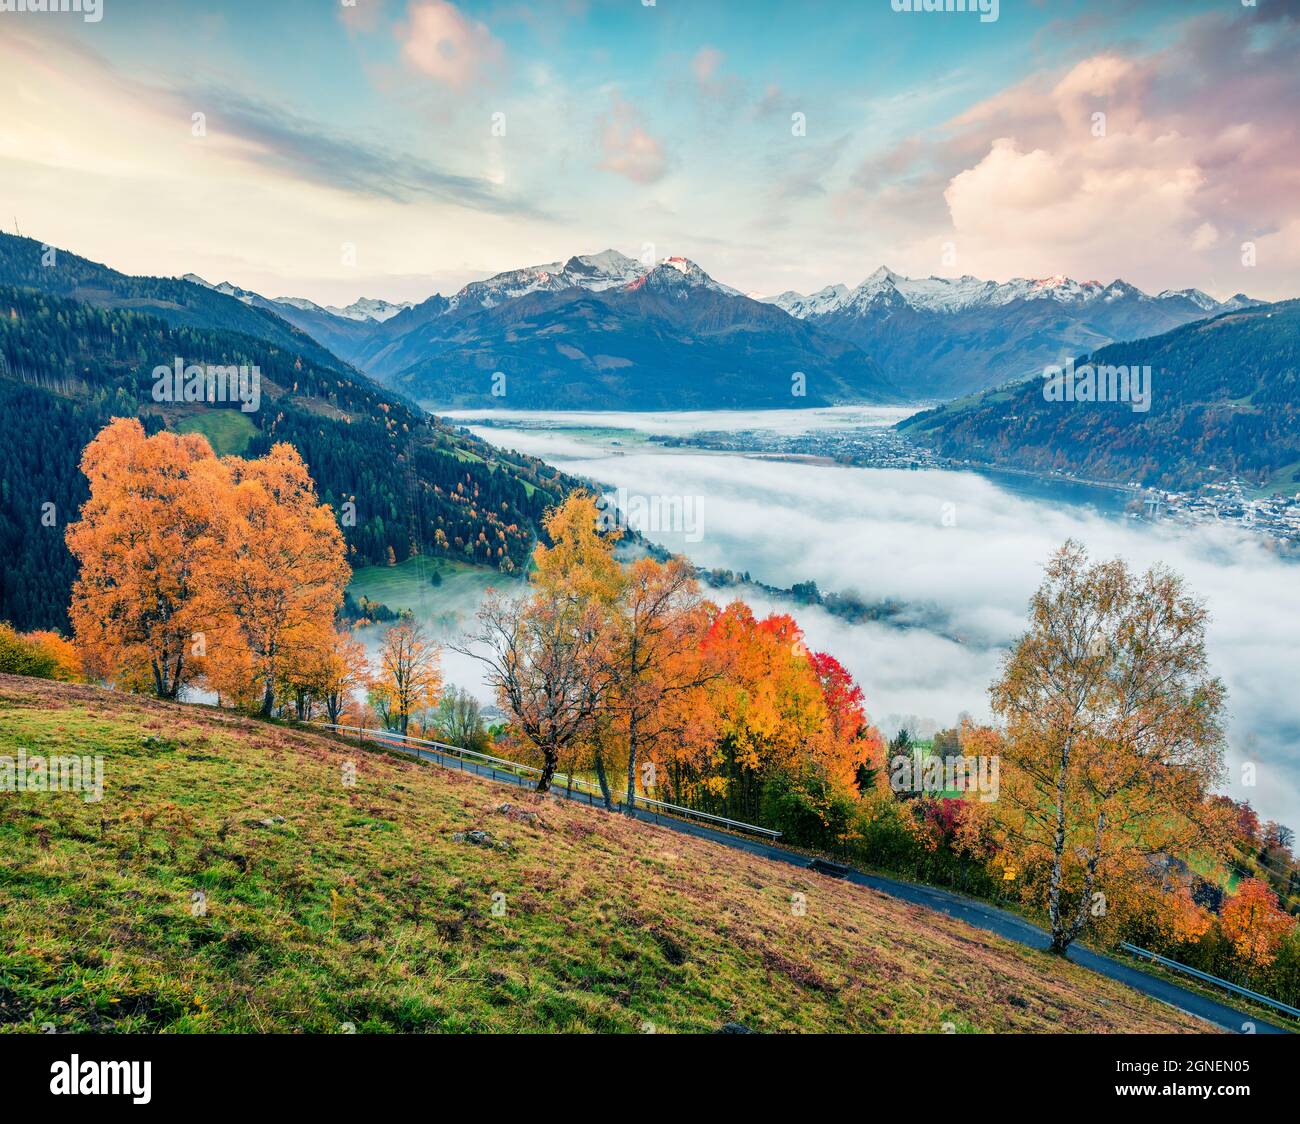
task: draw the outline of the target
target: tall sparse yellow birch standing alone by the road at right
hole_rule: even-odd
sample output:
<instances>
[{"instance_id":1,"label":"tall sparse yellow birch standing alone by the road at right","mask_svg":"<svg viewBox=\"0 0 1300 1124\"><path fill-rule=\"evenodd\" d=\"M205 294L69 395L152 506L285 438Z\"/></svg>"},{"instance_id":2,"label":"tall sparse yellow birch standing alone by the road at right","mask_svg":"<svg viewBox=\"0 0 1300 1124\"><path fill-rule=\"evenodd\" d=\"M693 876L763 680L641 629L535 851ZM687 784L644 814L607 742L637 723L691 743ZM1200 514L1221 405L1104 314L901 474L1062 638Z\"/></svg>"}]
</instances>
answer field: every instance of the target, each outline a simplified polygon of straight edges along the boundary
<instances>
[{"instance_id":1,"label":"tall sparse yellow birch standing alone by the road at right","mask_svg":"<svg viewBox=\"0 0 1300 1124\"><path fill-rule=\"evenodd\" d=\"M1164 856L1222 849L1206 794L1225 691L1206 671L1205 609L1176 576L1093 564L1067 542L991 698L1005 737L985 807L1004 851L1043 872L1053 951L1150 885Z\"/></svg>"}]
</instances>

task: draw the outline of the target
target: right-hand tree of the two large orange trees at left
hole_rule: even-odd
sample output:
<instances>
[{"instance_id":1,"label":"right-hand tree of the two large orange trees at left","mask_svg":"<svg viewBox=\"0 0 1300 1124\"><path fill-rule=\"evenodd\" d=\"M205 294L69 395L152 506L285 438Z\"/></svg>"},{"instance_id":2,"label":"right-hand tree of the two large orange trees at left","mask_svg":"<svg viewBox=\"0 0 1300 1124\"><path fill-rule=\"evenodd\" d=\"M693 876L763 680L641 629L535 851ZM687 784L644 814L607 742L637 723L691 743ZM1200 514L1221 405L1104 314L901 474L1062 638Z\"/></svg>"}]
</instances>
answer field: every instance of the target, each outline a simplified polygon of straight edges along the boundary
<instances>
[{"instance_id":1,"label":"right-hand tree of the two large orange trees at left","mask_svg":"<svg viewBox=\"0 0 1300 1124\"><path fill-rule=\"evenodd\" d=\"M328 624L351 577L334 512L316 499L291 444L257 460L228 457L228 541L202 591L207 655L226 690L270 715L281 671L329 645Z\"/></svg>"}]
</instances>

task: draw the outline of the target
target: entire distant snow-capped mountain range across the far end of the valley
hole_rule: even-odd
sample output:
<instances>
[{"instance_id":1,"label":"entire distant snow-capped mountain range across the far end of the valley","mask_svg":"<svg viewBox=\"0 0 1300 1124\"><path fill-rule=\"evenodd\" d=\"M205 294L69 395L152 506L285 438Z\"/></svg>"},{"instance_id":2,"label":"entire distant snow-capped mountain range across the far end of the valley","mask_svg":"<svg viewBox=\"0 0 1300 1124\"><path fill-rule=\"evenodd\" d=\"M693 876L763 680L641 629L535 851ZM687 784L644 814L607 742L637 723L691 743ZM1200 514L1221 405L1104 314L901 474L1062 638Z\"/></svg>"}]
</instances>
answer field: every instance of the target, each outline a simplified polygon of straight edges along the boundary
<instances>
[{"instance_id":1,"label":"entire distant snow-capped mountain range across the far end of the valley","mask_svg":"<svg viewBox=\"0 0 1300 1124\"><path fill-rule=\"evenodd\" d=\"M410 305L332 308L209 287L277 313L434 409L942 400L1256 303L1196 288L1153 296L1118 279L907 278L885 268L854 288L755 299L688 259L615 249L507 270Z\"/></svg>"}]
</instances>

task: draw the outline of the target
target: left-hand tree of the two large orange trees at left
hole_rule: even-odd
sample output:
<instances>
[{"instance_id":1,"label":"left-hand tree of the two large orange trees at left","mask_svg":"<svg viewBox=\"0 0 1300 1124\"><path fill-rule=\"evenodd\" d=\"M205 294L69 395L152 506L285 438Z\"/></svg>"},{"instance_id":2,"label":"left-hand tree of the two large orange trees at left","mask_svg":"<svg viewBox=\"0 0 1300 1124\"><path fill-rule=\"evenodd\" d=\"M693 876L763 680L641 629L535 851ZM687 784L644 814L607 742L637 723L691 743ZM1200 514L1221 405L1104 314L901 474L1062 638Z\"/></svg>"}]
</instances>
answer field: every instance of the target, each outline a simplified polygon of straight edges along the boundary
<instances>
[{"instance_id":1,"label":"left-hand tree of the two large orange trees at left","mask_svg":"<svg viewBox=\"0 0 1300 1124\"><path fill-rule=\"evenodd\" d=\"M198 434L114 418L86 446L90 499L66 531L81 563L69 616L105 678L174 699L202 671L199 598L220 569L229 473Z\"/></svg>"}]
</instances>

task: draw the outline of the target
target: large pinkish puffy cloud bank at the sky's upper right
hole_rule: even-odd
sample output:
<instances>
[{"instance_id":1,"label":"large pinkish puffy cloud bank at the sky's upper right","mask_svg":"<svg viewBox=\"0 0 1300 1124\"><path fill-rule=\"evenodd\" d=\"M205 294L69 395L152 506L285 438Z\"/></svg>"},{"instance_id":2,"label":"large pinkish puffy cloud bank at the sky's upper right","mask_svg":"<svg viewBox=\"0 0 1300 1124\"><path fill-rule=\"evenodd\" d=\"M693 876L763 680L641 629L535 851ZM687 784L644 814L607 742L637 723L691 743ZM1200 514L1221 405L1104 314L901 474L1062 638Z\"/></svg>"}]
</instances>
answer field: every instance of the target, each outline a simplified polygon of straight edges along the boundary
<instances>
[{"instance_id":1,"label":"large pinkish puffy cloud bank at the sky's upper right","mask_svg":"<svg viewBox=\"0 0 1300 1124\"><path fill-rule=\"evenodd\" d=\"M1295 296L1300 252L1284 231L1300 220L1297 6L1199 17L1161 51L1034 74L872 155L849 203L927 261L950 238L962 270L980 275ZM936 196L946 214L927 209ZM1240 264L1247 240L1270 251L1253 270Z\"/></svg>"}]
</instances>

